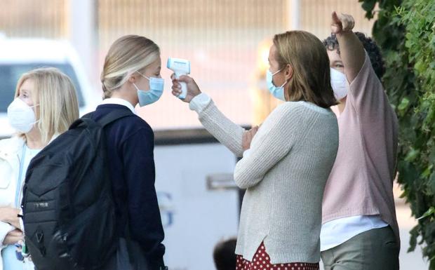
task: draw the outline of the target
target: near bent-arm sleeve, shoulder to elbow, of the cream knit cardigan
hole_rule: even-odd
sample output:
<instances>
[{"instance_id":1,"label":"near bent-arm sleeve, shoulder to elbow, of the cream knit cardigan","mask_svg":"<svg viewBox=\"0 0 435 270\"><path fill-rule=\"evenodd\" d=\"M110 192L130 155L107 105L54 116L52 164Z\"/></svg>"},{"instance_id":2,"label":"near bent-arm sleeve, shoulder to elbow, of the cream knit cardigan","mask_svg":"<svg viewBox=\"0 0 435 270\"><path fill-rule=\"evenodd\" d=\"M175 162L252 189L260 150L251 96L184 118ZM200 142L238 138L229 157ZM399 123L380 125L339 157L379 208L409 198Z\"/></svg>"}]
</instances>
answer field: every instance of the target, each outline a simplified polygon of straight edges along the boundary
<instances>
[{"instance_id":1,"label":"near bent-arm sleeve, shoulder to elbow, of the cream knit cardigan","mask_svg":"<svg viewBox=\"0 0 435 270\"><path fill-rule=\"evenodd\" d=\"M284 158L295 142L297 116L292 105L281 104L270 114L250 144L249 154L236 164L234 180L242 189L258 184L266 173Z\"/></svg>"}]
</instances>

